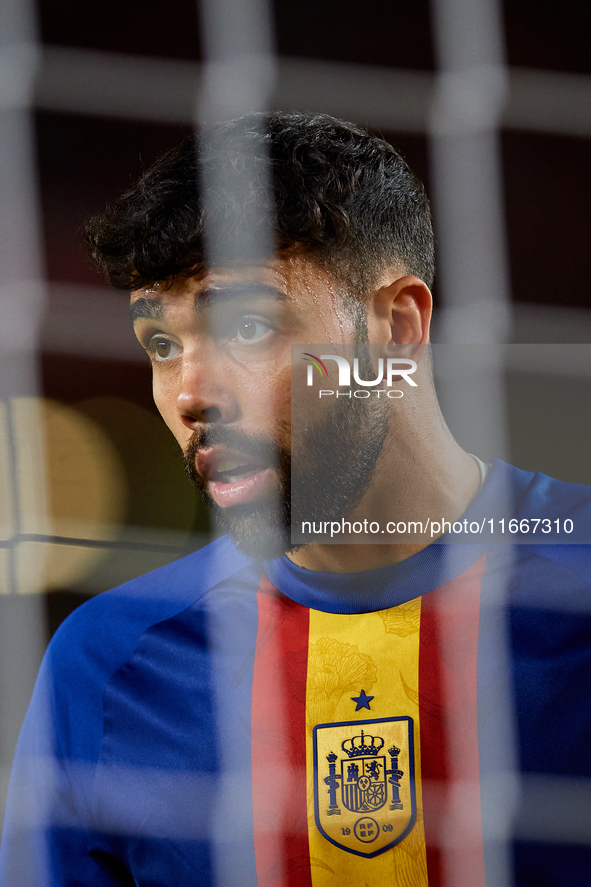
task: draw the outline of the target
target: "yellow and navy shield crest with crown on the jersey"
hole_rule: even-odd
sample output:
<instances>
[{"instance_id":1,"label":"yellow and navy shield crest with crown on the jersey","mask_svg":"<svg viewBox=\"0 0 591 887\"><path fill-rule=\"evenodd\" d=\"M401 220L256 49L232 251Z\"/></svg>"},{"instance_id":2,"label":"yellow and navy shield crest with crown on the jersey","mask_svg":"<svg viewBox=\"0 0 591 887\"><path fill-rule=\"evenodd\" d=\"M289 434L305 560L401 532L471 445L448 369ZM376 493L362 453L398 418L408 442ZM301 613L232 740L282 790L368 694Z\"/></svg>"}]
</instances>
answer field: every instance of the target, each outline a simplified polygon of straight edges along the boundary
<instances>
[{"instance_id":1,"label":"yellow and navy shield crest with crown on the jersey","mask_svg":"<svg viewBox=\"0 0 591 887\"><path fill-rule=\"evenodd\" d=\"M412 718L314 727L314 812L326 840L357 856L402 841L416 819Z\"/></svg>"}]
</instances>

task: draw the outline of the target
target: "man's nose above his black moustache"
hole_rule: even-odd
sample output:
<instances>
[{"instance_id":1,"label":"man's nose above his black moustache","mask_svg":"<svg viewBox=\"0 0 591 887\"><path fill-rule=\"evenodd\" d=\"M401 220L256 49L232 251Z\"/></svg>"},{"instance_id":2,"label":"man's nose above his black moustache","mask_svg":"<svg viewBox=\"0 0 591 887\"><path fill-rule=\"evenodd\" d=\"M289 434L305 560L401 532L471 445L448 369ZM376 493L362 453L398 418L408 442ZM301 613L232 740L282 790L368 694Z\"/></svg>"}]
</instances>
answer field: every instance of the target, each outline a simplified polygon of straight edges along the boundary
<instances>
[{"instance_id":1,"label":"man's nose above his black moustache","mask_svg":"<svg viewBox=\"0 0 591 887\"><path fill-rule=\"evenodd\" d=\"M182 423L194 431L211 424L229 424L240 416L231 375L204 357L183 360L176 407Z\"/></svg>"}]
</instances>

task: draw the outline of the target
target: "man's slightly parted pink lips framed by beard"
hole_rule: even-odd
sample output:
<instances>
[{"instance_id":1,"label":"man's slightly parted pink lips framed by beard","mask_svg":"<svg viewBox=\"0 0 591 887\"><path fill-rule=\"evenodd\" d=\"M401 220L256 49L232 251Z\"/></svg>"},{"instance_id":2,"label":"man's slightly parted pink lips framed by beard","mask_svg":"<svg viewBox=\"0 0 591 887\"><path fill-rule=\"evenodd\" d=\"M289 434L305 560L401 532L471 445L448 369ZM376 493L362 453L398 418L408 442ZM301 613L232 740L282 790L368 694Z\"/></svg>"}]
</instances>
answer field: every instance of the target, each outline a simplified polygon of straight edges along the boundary
<instances>
[{"instance_id":1,"label":"man's slightly parted pink lips framed by beard","mask_svg":"<svg viewBox=\"0 0 591 887\"><path fill-rule=\"evenodd\" d=\"M255 456L225 447L199 450L195 466L220 508L260 499L271 489L275 478L275 469L257 462Z\"/></svg>"}]
</instances>

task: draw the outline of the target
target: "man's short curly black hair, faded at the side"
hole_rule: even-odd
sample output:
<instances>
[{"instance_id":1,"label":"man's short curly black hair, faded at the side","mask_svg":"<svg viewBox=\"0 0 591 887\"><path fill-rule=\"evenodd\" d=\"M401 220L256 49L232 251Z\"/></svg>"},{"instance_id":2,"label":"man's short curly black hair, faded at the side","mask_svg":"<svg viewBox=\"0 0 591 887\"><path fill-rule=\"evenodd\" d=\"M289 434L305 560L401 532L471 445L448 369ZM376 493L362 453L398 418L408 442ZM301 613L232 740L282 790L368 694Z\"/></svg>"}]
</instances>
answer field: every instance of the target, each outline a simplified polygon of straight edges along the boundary
<instances>
[{"instance_id":1,"label":"man's short curly black hair, faded at the side","mask_svg":"<svg viewBox=\"0 0 591 887\"><path fill-rule=\"evenodd\" d=\"M211 187L204 166L212 157L218 171L249 177L239 205L231 189ZM324 114L253 114L186 139L90 219L85 242L117 288L171 282L207 264L212 227L222 225L231 243L232 232L263 219L269 190L280 251L301 244L358 291L388 264L431 286L434 241L422 184L388 142Z\"/></svg>"}]
</instances>

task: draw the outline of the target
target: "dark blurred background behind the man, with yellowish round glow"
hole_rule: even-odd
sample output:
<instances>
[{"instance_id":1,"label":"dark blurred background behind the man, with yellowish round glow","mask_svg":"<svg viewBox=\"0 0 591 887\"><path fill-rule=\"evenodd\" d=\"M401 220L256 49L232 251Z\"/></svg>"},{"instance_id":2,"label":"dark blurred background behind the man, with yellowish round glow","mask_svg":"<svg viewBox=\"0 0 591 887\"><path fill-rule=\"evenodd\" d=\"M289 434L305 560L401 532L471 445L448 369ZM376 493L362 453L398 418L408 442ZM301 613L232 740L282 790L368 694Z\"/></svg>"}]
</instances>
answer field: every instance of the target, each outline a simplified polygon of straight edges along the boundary
<instances>
[{"instance_id":1,"label":"dark blurred background behind the man, with yellowish round glow","mask_svg":"<svg viewBox=\"0 0 591 887\"><path fill-rule=\"evenodd\" d=\"M517 356L498 371L490 396L502 442L491 452L487 436L473 440L461 422L458 433L483 457L501 452L591 484L588 4L485 3L472 21L476 7L275 0L264 13L262 92L269 107L367 126L425 182L442 270L435 341L479 341L458 321L463 285L482 290L488 344L580 346L576 360L560 349L551 365ZM13 0L0 14L3 780L39 657L62 619L209 538L152 404L127 297L103 285L81 248L85 219L199 119L213 52L204 21L194 0L40 0L32 9ZM230 9L230 55L233 21ZM453 30L454 21L463 24ZM454 187L458 173L471 183L467 196Z\"/></svg>"}]
</instances>

